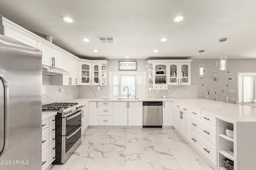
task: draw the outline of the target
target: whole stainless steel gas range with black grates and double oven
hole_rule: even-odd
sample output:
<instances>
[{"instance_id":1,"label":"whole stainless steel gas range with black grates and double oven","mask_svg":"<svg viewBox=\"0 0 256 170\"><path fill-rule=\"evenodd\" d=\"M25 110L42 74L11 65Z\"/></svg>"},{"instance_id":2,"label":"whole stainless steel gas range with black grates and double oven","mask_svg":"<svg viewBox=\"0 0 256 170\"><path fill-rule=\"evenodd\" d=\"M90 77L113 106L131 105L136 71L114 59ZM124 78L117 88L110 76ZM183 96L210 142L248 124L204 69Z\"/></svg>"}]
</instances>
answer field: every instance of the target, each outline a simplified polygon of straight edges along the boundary
<instances>
[{"instance_id":1,"label":"whole stainless steel gas range with black grates and double oven","mask_svg":"<svg viewBox=\"0 0 256 170\"><path fill-rule=\"evenodd\" d=\"M77 103L51 103L42 111L57 111L55 116L56 159L52 164L63 164L82 143L82 105Z\"/></svg>"}]
</instances>

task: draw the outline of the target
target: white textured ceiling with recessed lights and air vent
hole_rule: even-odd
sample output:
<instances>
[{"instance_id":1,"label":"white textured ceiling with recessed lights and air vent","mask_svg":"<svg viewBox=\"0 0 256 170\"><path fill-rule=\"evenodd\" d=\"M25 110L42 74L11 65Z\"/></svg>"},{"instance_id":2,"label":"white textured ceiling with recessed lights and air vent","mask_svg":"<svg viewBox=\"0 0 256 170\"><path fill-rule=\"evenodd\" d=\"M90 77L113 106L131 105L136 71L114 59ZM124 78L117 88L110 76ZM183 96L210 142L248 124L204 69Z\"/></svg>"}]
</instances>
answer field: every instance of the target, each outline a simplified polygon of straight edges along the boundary
<instances>
[{"instance_id":1,"label":"white textured ceiling with recessed lights and air vent","mask_svg":"<svg viewBox=\"0 0 256 170\"><path fill-rule=\"evenodd\" d=\"M0 0L0 14L86 59L198 59L201 49L203 58L214 59L224 37L227 58L255 59L255 6L255 0ZM186 19L174 23L181 14ZM101 44L96 36L116 43Z\"/></svg>"}]
</instances>

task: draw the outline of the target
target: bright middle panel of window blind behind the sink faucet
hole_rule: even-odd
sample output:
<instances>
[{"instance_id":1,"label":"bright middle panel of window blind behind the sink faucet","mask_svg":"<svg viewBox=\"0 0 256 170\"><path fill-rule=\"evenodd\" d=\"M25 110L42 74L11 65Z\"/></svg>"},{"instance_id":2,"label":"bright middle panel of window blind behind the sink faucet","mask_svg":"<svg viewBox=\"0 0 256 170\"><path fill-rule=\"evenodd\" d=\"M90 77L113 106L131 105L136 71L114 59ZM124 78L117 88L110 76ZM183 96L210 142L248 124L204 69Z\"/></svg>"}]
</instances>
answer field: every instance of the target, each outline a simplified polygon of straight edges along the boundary
<instances>
[{"instance_id":1,"label":"bright middle panel of window blind behind the sink faucet","mask_svg":"<svg viewBox=\"0 0 256 170\"><path fill-rule=\"evenodd\" d=\"M132 96L135 95L135 76L134 75L121 75L121 96L126 96L128 93L128 89L124 87L127 86L129 88L129 94Z\"/></svg>"}]
</instances>

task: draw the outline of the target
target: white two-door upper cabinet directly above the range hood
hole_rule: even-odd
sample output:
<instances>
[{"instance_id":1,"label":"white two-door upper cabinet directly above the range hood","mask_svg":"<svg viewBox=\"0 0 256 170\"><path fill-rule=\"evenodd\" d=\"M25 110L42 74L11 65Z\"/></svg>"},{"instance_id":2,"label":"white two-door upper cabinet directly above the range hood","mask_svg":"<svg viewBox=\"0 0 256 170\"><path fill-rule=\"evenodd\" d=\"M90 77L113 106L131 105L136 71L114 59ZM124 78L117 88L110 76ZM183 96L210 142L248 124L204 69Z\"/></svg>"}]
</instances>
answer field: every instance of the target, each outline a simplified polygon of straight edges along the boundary
<instances>
[{"instance_id":1,"label":"white two-door upper cabinet directly above the range hood","mask_svg":"<svg viewBox=\"0 0 256 170\"><path fill-rule=\"evenodd\" d=\"M38 42L38 49L42 50L42 64L56 68L63 68L63 54L52 47Z\"/></svg>"}]
</instances>

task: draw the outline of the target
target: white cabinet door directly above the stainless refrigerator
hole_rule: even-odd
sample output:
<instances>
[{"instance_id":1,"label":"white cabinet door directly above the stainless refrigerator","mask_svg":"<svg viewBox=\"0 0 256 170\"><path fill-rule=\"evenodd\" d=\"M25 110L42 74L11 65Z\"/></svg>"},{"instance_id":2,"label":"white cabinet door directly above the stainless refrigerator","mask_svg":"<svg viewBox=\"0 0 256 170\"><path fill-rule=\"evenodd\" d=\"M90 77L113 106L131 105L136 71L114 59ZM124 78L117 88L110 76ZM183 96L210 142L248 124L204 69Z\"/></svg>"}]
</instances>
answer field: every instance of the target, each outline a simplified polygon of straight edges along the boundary
<instances>
[{"instance_id":1,"label":"white cabinet door directly above the stainless refrigerator","mask_svg":"<svg viewBox=\"0 0 256 170\"><path fill-rule=\"evenodd\" d=\"M35 39L30 38L28 35L21 33L19 31L16 31L10 27L5 27L4 29L4 35L6 37L10 37L12 39L15 39L17 41L20 41L26 45L30 45L31 47L37 48L37 41Z\"/></svg>"}]
</instances>

